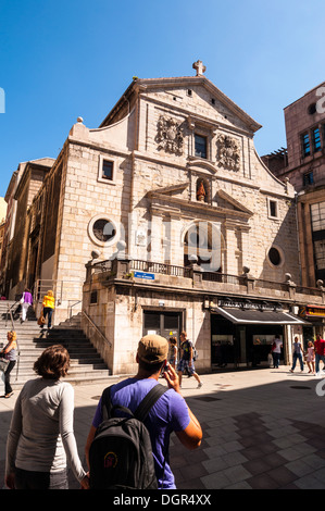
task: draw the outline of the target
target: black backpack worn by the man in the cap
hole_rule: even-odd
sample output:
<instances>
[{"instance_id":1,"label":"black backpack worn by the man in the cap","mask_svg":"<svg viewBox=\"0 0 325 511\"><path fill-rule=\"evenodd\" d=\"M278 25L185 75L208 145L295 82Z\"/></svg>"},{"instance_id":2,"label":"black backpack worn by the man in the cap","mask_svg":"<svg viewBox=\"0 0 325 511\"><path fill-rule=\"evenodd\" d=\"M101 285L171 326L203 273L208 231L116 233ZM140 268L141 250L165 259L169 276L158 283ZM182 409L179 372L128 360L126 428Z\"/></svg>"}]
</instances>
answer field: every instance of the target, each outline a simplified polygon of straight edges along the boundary
<instances>
[{"instance_id":1,"label":"black backpack worn by the man in the cap","mask_svg":"<svg viewBox=\"0 0 325 511\"><path fill-rule=\"evenodd\" d=\"M103 422L89 449L90 488L157 489L151 440L143 421L168 388L155 385L135 413L125 407L113 407L110 390L108 387L102 394ZM128 416L114 416L116 410Z\"/></svg>"}]
</instances>

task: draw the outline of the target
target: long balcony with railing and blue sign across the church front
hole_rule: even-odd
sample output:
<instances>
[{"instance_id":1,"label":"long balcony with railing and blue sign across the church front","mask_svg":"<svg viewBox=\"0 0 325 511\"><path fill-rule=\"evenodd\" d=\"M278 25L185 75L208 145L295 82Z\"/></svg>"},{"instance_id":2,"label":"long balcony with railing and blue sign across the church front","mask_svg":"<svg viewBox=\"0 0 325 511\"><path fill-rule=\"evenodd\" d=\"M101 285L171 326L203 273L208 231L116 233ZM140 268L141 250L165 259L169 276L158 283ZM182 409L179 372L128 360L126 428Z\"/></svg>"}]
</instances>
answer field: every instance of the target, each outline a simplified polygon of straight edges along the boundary
<instances>
[{"instance_id":1,"label":"long balcony with railing and blue sign across the church front","mask_svg":"<svg viewBox=\"0 0 325 511\"><path fill-rule=\"evenodd\" d=\"M203 272L200 266L175 266L172 264L132 259L92 261L87 265L87 281L104 286L118 284L157 291L196 294L211 299L225 295L234 298L282 301L290 306L321 306L325 303L325 287L303 287L291 282L286 274L285 282L255 278L245 269L241 275L218 272Z\"/></svg>"}]
</instances>

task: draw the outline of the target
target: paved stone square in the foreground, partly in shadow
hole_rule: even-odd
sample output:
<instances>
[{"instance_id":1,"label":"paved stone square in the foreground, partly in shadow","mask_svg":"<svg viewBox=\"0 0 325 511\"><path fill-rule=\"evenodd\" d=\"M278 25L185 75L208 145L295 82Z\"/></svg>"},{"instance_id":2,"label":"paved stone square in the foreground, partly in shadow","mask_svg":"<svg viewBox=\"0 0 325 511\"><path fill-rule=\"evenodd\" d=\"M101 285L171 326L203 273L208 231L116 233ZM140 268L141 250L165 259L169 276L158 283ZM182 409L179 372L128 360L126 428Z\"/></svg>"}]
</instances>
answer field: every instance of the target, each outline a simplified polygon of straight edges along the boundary
<instances>
[{"instance_id":1,"label":"paved stone square in the foreground, partly in shadow","mask_svg":"<svg viewBox=\"0 0 325 511\"><path fill-rule=\"evenodd\" d=\"M183 381L183 395L202 425L203 441L188 451L172 436L171 465L178 489L325 488L325 396L316 394L317 385L325 394L325 379L298 370L292 374L289 366L224 371L201 379L200 389L193 378ZM108 385L116 381L109 377ZM82 460L104 386L74 387ZM0 487L16 395L0 399ZM77 488L73 477L71 487Z\"/></svg>"}]
</instances>

